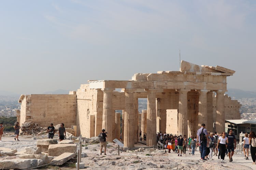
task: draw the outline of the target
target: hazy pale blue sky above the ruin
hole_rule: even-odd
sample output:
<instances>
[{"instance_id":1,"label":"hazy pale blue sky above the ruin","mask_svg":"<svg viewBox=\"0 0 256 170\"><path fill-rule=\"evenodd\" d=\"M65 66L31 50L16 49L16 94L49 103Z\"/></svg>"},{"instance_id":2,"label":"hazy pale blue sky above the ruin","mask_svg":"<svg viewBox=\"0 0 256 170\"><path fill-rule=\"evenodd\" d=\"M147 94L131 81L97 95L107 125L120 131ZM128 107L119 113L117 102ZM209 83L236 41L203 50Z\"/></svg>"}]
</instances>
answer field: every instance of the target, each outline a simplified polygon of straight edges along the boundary
<instances>
[{"instance_id":1,"label":"hazy pale blue sky above the ruin","mask_svg":"<svg viewBox=\"0 0 256 170\"><path fill-rule=\"evenodd\" d=\"M0 90L76 90L87 80L179 70L181 60L236 73L255 90L256 1L1 1Z\"/></svg>"}]
</instances>

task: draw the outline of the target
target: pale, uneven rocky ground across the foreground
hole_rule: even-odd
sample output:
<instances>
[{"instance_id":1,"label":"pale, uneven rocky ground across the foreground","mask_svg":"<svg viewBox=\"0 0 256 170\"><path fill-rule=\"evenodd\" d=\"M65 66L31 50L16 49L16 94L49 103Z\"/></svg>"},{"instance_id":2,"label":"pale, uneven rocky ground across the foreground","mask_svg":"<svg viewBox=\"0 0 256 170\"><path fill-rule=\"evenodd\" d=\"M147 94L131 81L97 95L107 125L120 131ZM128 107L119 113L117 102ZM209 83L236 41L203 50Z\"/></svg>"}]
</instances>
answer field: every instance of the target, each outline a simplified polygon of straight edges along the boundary
<instances>
[{"instance_id":1,"label":"pale, uneven rocky ground across the foreground","mask_svg":"<svg viewBox=\"0 0 256 170\"><path fill-rule=\"evenodd\" d=\"M42 138L37 136L37 139ZM23 152L25 147L36 146L36 141L32 136L20 136L20 141L14 140L14 135L3 136L0 147L17 149L18 152ZM115 143L108 143L107 155L99 154L99 144L83 143L85 147L82 148L82 152L87 157L82 158L82 163L85 164L86 169L256 169L256 165L252 165L252 158L249 155L249 160L244 160L243 153L236 150L233 156L233 162L229 163L228 157L225 157L225 163L220 163L217 156L214 156L214 160L208 160L202 162L200 159L200 153L195 152L195 155L189 155L188 151L186 155L178 157L175 153L165 153L161 150L154 150L149 153L149 150L144 146L143 152L137 150L126 150L120 148L120 155L118 156L117 145ZM138 143L137 148L140 148L142 144ZM150 155L148 155L150 154ZM0 160L12 159L16 156L2 156ZM72 166L65 164L62 167L44 167L41 169L75 169Z\"/></svg>"}]
</instances>

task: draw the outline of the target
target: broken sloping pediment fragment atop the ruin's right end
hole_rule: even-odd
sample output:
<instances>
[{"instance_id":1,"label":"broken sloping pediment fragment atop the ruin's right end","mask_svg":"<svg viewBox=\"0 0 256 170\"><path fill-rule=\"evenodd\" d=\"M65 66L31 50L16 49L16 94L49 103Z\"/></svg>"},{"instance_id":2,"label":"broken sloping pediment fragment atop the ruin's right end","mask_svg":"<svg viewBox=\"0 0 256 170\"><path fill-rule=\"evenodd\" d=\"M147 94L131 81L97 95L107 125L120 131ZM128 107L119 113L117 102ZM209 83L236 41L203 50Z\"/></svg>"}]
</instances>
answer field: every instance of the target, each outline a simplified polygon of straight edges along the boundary
<instances>
[{"instance_id":1,"label":"broken sloping pediment fragment atop the ruin's right end","mask_svg":"<svg viewBox=\"0 0 256 170\"><path fill-rule=\"evenodd\" d=\"M235 73L236 71L230 70L221 66L199 66L186 61L181 61L180 71L197 71L197 72L221 72L221 73Z\"/></svg>"}]
</instances>

